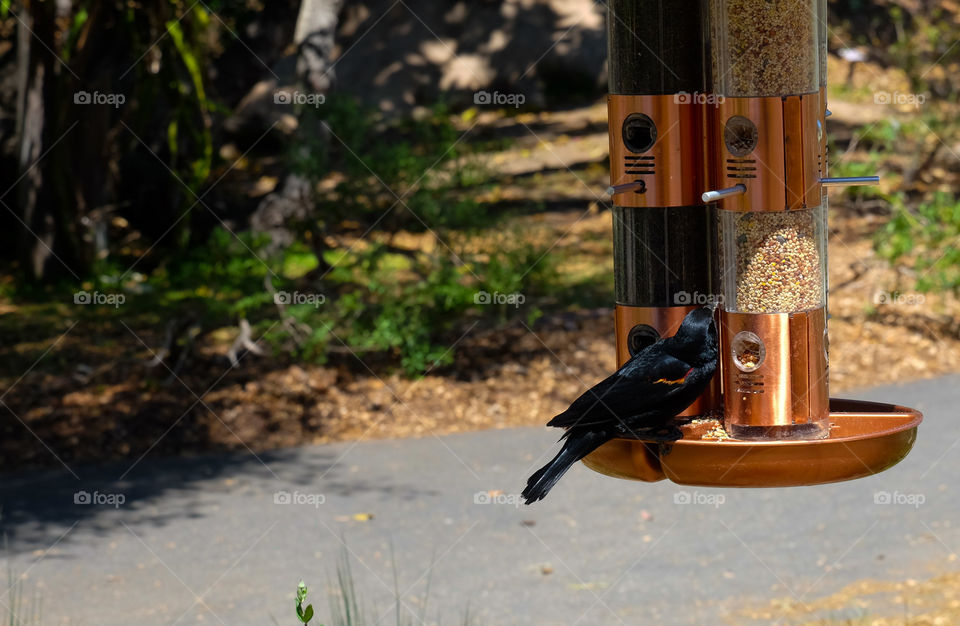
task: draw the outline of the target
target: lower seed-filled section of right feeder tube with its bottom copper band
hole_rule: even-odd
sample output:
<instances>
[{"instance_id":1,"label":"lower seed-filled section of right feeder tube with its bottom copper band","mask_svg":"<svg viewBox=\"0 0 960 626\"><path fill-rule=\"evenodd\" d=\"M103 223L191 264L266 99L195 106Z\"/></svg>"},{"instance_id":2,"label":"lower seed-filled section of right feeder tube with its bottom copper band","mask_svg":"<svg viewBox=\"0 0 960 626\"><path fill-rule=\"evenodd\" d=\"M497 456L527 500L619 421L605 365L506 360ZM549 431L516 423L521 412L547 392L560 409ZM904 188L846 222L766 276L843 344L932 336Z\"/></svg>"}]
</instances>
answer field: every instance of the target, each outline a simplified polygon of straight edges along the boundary
<instances>
[{"instance_id":1,"label":"lower seed-filled section of right feeder tube with its bottom copper band","mask_svg":"<svg viewBox=\"0 0 960 626\"><path fill-rule=\"evenodd\" d=\"M829 434L826 211L719 211L727 431Z\"/></svg>"}]
</instances>

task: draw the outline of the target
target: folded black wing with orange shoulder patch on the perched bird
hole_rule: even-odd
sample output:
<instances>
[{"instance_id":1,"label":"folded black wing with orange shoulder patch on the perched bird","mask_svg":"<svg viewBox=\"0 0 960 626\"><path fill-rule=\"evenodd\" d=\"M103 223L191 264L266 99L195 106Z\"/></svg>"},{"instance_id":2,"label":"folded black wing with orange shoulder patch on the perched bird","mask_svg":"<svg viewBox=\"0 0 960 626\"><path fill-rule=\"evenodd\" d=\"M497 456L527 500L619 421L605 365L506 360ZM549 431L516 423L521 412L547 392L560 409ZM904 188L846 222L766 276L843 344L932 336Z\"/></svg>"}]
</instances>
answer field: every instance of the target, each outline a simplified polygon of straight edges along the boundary
<instances>
[{"instance_id":1,"label":"folded black wing with orange shoulder patch on the perched bird","mask_svg":"<svg viewBox=\"0 0 960 626\"><path fill-rule=\"evenodd\" d=\"M584 392L547 426L569 428L615 424L627 417L655 410L665 398L683 387L693 370L689 364L665 352L638 357Z\"/></svg>"}]
</instances>

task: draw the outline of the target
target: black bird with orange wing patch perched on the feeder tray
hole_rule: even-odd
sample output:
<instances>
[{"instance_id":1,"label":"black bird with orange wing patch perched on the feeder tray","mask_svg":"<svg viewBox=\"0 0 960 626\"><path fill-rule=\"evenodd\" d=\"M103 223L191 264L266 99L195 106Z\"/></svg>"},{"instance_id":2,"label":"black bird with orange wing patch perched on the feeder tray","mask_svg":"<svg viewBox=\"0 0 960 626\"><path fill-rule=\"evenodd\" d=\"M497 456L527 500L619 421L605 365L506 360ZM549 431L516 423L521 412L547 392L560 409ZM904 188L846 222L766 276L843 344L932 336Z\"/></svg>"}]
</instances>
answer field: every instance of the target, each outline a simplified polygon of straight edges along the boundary
<instances>
[{"instance_id":1,"label":"black bird with orange wing patch perched on the feeder tray","mask_svg":"<svg viewBox=\"0 0 960 626\"><path fill-rule=\"evenodd\" d=\"M527 481L522 494L527 504L542 500L571 465L615 437L680 439L671 420L703 393L716 369L713 309L695 309L673 337L640 350L547 422L567 429L560 438L565 441L557 456Z\"/></svg>"}]
</instances>

